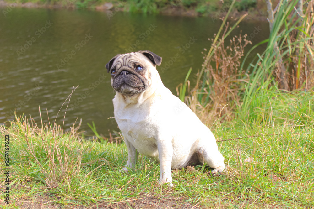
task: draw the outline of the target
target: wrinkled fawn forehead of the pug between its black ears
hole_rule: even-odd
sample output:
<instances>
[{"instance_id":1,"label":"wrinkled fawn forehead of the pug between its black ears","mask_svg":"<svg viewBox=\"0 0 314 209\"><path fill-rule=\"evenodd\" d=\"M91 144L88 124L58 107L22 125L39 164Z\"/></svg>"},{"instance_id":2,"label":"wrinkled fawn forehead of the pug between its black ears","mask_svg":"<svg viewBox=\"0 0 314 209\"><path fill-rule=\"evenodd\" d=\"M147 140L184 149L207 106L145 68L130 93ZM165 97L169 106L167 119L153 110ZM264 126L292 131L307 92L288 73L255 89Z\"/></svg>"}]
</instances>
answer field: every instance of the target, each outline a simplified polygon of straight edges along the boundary
<instances>
[{"instance_id":1,"label":"wrinkled fawn forehead of the pug between its black ears","mask_svg":"<svg viewBox=\"0 0 314 209\"><path fill-rule=\"evenodd\" d=\"M127 66L133 68L134 65L149 65L149 60L142 53L131 52L129 54L120 55L113 62L115 68L120 68L122 66Z\"/></svg>"}]
</instances>

